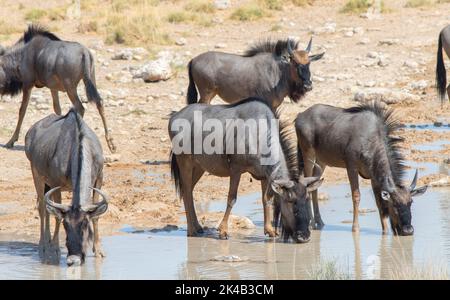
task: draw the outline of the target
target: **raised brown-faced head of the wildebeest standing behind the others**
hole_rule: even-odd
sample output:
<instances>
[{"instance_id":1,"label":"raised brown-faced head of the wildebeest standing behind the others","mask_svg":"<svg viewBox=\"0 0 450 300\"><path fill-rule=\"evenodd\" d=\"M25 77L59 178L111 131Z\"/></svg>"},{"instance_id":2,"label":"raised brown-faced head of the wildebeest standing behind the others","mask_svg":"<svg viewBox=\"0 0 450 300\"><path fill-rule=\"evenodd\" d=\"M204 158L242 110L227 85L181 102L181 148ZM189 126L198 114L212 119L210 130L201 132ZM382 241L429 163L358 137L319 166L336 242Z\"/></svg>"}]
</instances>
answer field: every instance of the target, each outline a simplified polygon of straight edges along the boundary
<instances>
[{"instance_id":1,"label":"raised brown-faced head of the wildebeest standing behind the others","mask_svg":"<svg viewBox=\"0 0 450 300\"><path fill-rule=\"evenodd\" d=\"M294 42L288 41L287 51L291 63L291 73L296 79L295 82L303 86L306 92L312 90L311 72L309 65L312 61L319 60L325 53L310 55L312 46L312 37L309 40L305 50L294 49Z\"/></svg>"}]
</instances>

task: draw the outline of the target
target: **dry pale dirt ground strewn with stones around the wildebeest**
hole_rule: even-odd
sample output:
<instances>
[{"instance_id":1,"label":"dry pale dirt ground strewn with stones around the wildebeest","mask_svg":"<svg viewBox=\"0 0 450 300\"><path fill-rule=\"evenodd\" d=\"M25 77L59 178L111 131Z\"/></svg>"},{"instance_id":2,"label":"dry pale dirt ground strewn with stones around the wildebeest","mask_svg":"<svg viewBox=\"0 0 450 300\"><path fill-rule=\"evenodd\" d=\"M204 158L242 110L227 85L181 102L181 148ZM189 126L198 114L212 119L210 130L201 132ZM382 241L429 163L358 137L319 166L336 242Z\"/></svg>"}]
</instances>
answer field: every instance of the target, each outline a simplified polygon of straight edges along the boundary
<instances>
[{"instance_id":1,"label":"dry pale dirt ground strewn with stones around the wildebeest","mask_svg":"<svg viewBox=\"0 0 450 300\"><path fill-rule=\"evenodd\" d=\"M19 1L33 6L32 1ZM64 1L62 1L64 2ZM67 2L67 1L66 1ZM202 52L214 50L239 53L259 38L285 38L295 36L306 44L311 29L323 27L327 22L336 23L336 31L318 33L314 36L313 52L326 50L322 60L313 63L311 71L317 80L314 89L295 104L287 99L283 106L283 118L293 120L295 116L315 103L326 103L342 107L355 105L355 89L364 85L375 85L389 89L404 89L411 82L426 80L427 87L413 90L420 100L391 105L403 123L433 123L450 121L450 104L443 106L434 91L434 69L436 63L437 37L442 27L450 23L450 4L439 4L425 8L402 8L405 1L385 1L392 11L380 18L366 19L358 14L339 13L344 1L315 1L313 6L295 7L287 5L283 11L274 11L272 16L255 22L240 22L227 17L234 6L242 1L232 1L232 7L218 11L216 15L223 23L211 27L194 24L168 24L167 30L172 40L180 37L187 43L155 46L152 51L169 50L182 55L187 61ZM55 1L46 1L51 7ZM59 2L58 2L59 3ZM23 12L17 0L3 0L0 19L13 22L25 28ZM272 31L275 24L282 24L278 31ZM103 45L100 34L80 34L77 22L58 20L51 23L55 33L65 40L78 41L93 50L96 58L97 84L105 98L106 113L112 134L118 147L119 159L107 163L104 168L103 190L110 195L111 205L100 224L104 233L113 233L123 224L138 227L161 227L179 224L184 220L183 207L177 199L169 175L167 164L170 141L167 134L168 115L185 105L187 73L180 69L170 80L157 83L131 81L121 83L108 80L108 74L126 70L130 66L140 66L142 61L111 60L120 45ZM362 28L347 36L348 28ZM1 43L11 45L20 34L2 38ZM394 39L393 45L380 44L381 40ZM217 50L217 49L216 49ZM362 66L371 51L382 53L387 65ZM413 61L413 67L405 62ZM448 61L448 60L447 60ZM359 85L359 86L358 86ZM361 86L362 85L362 86ZM84 88L82 83L80 88ZM38 92L37 89L33 91ZM48 99L47 90L39 91ZM69 108L66 95L61 95L65 111ZM0 144L5 144L17 121L20 96L0 100ZM220 103L219 99L215 103ZM39 218L35 209L35 190L29 163L23 151L26 130L36 121L52 113L31 105L16 147L12 150L0 147L0 233L29 235L38 234ZM105 154L109 154L104 141L103 128L94 106L88 105L85 120L95 130L103 144ZM401 131L406 138L405 148L413 144L448 139L445 132ZM440 152L413 151L408 159L441 161L450 157L450 148ZM436 177L436 176L435 176ZM435 179L435 178L433 178ZM344 170L328 168L326 184L345 182ZM425 180L431 180L426 178ZM249 176L241 181L239 193L260 190L258 182L251 182ZM365 182L367 184L367 182ZM226 178L205 175L196 187L196 201L225 199L228 188ZM67 198L68 199L68 198ZM66 199L66 201L67 201ZM180 221L181 220L181 221Z\"/></svg>"}]
</instances>

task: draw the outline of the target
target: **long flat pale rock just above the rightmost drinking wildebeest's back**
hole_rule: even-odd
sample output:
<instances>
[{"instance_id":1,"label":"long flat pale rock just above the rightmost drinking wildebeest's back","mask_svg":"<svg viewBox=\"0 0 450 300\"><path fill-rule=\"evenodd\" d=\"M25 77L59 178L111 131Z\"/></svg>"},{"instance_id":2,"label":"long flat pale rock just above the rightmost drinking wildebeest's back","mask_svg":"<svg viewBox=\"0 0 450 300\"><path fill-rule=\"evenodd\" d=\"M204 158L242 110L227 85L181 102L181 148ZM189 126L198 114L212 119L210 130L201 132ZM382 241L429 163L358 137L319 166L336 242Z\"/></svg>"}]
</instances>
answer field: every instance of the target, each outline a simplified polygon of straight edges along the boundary
<instances>
[{"instance_id":1,"label":"long flat pale rock just above the rightmost drinking wildebeest's back","mask_svg":"<svg viewBox=\"0 0 450 300\"><path fill-rule=\"evenodd\" d=\"M368 101L381 101L386 104L394 104L418 101L420 97L405 91L391 90L388 88L367 88L357 91L353 99L363 103Z\"/></svg>"}]
</instances>

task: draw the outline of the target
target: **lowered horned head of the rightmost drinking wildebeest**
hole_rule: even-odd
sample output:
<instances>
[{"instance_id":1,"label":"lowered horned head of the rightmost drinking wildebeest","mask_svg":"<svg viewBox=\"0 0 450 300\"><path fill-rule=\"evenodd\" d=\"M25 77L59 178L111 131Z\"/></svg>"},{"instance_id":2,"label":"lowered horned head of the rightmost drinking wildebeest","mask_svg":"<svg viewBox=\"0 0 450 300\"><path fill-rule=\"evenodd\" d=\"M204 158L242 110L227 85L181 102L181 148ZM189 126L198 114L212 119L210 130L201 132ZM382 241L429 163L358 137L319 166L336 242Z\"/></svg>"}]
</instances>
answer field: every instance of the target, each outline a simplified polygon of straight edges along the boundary
<instances>
[{"instance_id":1,"label":"lowered horned head of the rightmost drinking wildebeest","mask_svg":"<svg viewBox=\"0 0 450 300\"><path fill-rule=\"evenodd\" d=\"M381 198L387 204L392 232L395 235L412 235L414 228L411 225L412 197L422 195L427 186L416 189L418 171L409 187L396 186L386 178L385 188L381 191Z\"/></svg>"}]
</instances>

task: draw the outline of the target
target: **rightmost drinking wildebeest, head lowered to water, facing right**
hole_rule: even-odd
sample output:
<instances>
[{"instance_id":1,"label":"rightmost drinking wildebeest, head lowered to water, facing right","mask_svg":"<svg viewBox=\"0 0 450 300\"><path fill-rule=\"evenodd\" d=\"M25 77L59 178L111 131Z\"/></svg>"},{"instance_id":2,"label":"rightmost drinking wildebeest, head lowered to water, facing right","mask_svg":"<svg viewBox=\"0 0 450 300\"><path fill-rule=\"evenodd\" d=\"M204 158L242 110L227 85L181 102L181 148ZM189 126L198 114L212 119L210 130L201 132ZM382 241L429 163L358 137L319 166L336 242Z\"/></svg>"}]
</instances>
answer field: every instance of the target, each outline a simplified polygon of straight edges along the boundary
<instances>
[{"instance_id":1,"label":"rightmost drinking wildebeest, head lowered to water, facing right","mask_svg":"<svg viewBox=\"0 0 450 300\"><path fill-rule=\"evenodd\" d=\"M392 114L392 110L379 103L348 109L314 105L295 120L300 169L303 164L305 176L321 173L325 166L347 169L353 200L353 231L359 231L359 174L371 180L383 233L388 230L387 217L394 234L414 232L411 197L425 193L427 186L416 189L417 171L409 187L403 183L405 166L399 148L403 139L394 135L399 123ZM312 201L314 227L322 228L317 191L312 192Z\"/></svg>"}]
</instances>

